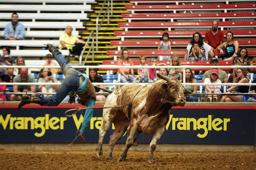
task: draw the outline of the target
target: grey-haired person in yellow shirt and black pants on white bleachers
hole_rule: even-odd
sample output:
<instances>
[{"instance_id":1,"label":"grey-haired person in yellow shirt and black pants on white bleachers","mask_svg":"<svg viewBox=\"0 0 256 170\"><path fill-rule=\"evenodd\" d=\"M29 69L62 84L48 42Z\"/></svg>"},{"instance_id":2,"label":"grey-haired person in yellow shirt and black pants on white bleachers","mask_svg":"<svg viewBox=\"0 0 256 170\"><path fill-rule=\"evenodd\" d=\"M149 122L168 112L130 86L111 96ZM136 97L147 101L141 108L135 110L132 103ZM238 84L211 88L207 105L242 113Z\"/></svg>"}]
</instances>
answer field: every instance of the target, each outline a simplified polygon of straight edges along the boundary
<instances>
[{"instance_id":1,"label":"grey-haired person in yellow shirt and black pants on white bleachers","mask_svg":"<svg viewBox=\"0 0 256 170\"><path fill-rule=\"evenodd\" d=\"M78 39L76 36L71 34L72 28L70 25L67 25L65 29L65 33L62 33L59 37L59 48L62 48L63 50L69 50L70 56L74 56L75 58L78 58L81 54L81 51L83 49L83 45L86 44L85 41ZM89 45L87 44L89 47Z\"/></svg>"}]
</instances>

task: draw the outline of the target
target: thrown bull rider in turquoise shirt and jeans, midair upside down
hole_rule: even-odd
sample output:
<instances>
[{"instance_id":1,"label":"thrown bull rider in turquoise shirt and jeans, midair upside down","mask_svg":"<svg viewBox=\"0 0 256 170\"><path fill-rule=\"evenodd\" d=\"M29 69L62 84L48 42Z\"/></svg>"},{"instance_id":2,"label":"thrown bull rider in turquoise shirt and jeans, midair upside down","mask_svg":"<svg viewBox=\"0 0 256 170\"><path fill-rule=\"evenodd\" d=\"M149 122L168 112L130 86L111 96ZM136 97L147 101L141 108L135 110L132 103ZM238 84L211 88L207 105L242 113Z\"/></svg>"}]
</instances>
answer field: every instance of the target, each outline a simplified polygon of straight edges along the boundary
<instances>
[{"instance_id":1,"label":"thrown bull rider in turquoise shirt and jeans, midair upside down","mask_svg":"<svg viewBox=\"0 0 256 170\"><path fill-rule=\"evenodd\" d=\"M61 52L55 49L55 47L53 47L51 44L47 44L47 48L61 66L65 74L65 78L54 96L36 95L30 97L28 95L23 95L18 108L21 108L23 105L29 103L36 103L40 104L41 106L57 106L68 94L70 96L69 103L75 103L75 92L79 97L79 99L77 99L79 104L86 107L94 107L96 92L90 79L87 78L86 74L81 74L79 71L71 67L67 63L65 56L63 56ZM93 109L86 109L82 127L79 131L80 134L78 135L78 137L81 137L83 141L85 141L83 133L89 127L92 116Z\"/></svg>"}]
</instances>

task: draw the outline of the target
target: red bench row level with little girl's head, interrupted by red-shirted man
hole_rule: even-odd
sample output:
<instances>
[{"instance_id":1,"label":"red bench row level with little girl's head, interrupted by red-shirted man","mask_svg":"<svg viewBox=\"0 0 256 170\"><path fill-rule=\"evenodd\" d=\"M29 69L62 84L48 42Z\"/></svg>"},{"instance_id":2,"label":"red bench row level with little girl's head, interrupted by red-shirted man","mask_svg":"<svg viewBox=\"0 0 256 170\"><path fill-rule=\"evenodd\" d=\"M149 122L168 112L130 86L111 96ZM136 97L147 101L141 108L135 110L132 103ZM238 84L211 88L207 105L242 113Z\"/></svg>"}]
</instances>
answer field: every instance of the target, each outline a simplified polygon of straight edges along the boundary
<instances>
[{"instance_id":1,"label":"red bench row level with little girl's head, interrupted by red-shirted man","mask_svg":"<svg viewBox=\"0 0 256 170\"><path fill-rule=\"evenodd\" d=\"M228 31L232 31L234 34L234 37L255 37L256 36L256 29L240 29L240 30L223 30L224 36L226 36ZM163 33L167 32L169 34L170 38L184 38L184 37L192 37L192 35L195 32L199 32L202 37L205 37L206 30L174 30L174 31L115 31L115 36L121 37L121 40L123 41L124 38L154 38L154 37L162 37Z\"/></svg>"}]
</instances>

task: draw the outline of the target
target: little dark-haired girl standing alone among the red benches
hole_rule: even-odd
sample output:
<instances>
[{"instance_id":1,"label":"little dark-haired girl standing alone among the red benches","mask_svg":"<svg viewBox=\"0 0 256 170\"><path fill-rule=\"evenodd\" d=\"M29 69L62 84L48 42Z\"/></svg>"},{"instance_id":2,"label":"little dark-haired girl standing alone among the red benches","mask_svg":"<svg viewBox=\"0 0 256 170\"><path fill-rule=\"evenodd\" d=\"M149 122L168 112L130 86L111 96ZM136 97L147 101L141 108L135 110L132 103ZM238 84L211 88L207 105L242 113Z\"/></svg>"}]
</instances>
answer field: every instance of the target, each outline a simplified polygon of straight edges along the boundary
<instances>
[{"instance_id":1,"label":"little dark-haired girl standing alone among the red benches","mask_svg":"<svg viewBox=\"0 0 256 170\"><path fill-rule=\"evenodd\" d=\"M162 41L157 48L158 51L171 51L171 42L169 41L169 34L167 32L163 33ZM159 60L171 60L171 56L159 56Z\"/></svg>"}]
</instances>

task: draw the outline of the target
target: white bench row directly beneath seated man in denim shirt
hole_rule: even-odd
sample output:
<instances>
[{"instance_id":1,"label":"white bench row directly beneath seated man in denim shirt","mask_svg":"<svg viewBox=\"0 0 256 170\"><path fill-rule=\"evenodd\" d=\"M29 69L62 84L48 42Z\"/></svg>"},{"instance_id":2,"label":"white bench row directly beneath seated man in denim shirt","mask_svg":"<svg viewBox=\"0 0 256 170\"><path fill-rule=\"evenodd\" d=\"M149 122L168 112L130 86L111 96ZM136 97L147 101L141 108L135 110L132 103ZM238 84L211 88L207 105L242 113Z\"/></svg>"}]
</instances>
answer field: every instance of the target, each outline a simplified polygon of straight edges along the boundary
<instances>
[{"instance_id":1,"label":"white bench row directly beneath seated man in denim shirt","mask_svg":"<svg viewBox=\"0 0 256 170\"><path fill-rule=\"evenodd\" d=\"M16 46L16 50L19 50L19 46L29 47L46 47L44 44L53 44L53 46L59 46L59 40L0 40L0 46Z\"/></svg>"}]
</instances>

